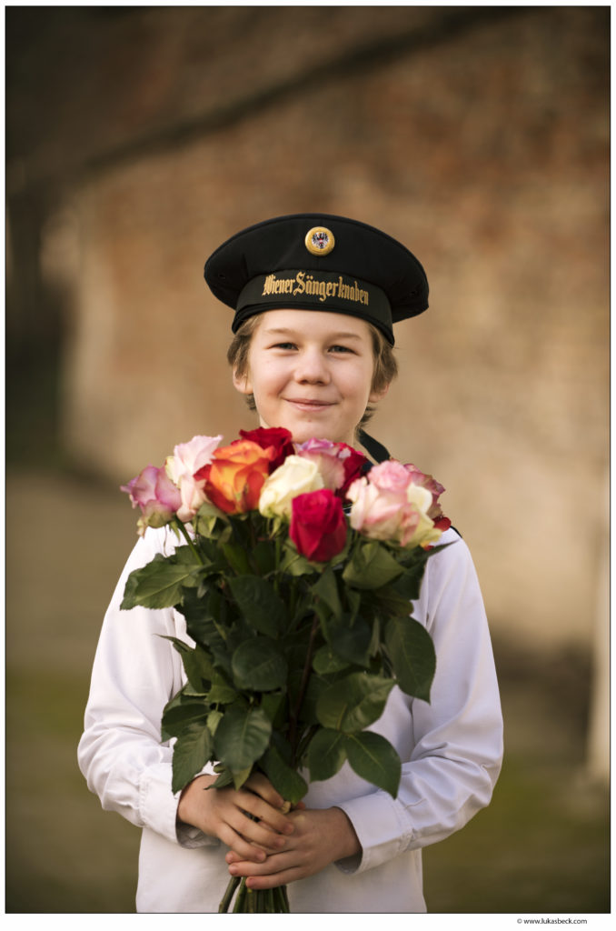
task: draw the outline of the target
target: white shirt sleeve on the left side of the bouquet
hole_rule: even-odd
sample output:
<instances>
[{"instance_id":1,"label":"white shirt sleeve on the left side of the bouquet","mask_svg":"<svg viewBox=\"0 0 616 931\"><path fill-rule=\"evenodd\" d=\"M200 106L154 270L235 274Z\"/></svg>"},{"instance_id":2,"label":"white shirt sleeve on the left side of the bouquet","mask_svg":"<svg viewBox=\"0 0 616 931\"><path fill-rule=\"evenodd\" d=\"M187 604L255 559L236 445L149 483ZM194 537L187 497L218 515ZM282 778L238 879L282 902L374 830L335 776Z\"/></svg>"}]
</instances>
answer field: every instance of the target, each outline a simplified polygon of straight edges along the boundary
<instances>
[{"instance_id":1,"label":"white shirt sleeve on the left side of the bouquet","mask_svg":"<svg viewBox=\"0 0 616 931\"><path fill-rule=\"evenodd\" d=\"M128 573L153 560L170 537L164 529L148 530L120 576L100 632L78 761L104 809L193 846L218 841L188 826L178 836L172 748L160 739L163 708L185 681L180 655L160 635L188 638L171 609L120 610ZM169 540L167 551L172 548Z\"/></svg>"}]
</instances>

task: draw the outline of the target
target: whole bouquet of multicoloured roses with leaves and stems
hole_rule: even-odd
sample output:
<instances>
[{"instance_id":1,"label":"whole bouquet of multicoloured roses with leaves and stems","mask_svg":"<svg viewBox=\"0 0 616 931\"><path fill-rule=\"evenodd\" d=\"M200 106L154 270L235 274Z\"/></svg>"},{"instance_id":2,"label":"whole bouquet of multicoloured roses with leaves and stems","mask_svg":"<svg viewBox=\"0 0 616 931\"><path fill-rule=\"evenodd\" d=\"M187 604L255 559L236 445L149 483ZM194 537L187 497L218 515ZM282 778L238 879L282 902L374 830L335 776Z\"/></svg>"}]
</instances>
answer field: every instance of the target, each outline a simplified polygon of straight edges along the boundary
<instances>
[{"instance_id":1,"label":"whole bouquet of multicoloured roses with leaves and stems","mask_svg":"<svg viewBox=\"0 0 616 931\"><path fill-rule=\"evenodd\" d=\"M208 762L211 788L254 771L295 805L344 762L395 797L401 762L368 730L395 685L429 700L432 640L409 616L449 527L443 488L414 466L379 466L344 443L285 429L194 437L123 491L139 533L169 524L178 545L127 579L122 608L173 607L194 646L172 640L186 684L164 710L172 790ZM227 911L288 911L284 886L233 879Z\"/></svg>"}]
</instances>

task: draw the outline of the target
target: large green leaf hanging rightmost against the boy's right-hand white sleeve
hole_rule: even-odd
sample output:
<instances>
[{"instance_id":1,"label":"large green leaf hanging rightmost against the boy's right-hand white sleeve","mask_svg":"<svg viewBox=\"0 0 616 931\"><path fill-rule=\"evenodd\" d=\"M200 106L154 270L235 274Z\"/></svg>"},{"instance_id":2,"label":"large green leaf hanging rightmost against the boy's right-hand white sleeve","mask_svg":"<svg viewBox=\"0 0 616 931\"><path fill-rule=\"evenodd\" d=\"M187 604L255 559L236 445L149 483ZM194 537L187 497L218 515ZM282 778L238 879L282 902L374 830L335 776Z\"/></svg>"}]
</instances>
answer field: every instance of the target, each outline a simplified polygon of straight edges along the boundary
<instances>
[{"instance_id":1,"label":"large green leaf hanging rightmost against the boy's right-hand white sleeve","mask_svg":"<svg viewBox=\"0 0 616 931\"><path fill-rule=\"evenodd\" d=\"M402 691L429 702L436 654L428 631L412 617L392 617L385 627L385 643Z\"/></svg>"}]
</instances>

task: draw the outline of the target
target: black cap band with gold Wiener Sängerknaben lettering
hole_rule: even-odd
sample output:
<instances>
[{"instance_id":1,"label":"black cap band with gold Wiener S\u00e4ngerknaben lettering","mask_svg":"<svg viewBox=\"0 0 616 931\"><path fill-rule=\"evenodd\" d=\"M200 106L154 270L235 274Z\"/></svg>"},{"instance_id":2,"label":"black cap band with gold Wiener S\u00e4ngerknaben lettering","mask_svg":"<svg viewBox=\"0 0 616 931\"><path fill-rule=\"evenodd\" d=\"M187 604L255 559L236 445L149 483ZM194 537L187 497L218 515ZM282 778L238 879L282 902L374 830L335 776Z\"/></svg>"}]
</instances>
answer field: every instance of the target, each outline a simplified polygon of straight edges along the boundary
<instances>
[{"instance_id":1,"label":"black cap band with gold Wiener S\u00e4ngerknaben lettering","mask_svg":"<svg viewBox=\"0 0 616 931\"><path fill-rule=\"evenodd\" d=\"M339 272L287 268L251 278L241 290L233 331L243 320L276 307L305 307L361 317L394 342L391 304L377 285Z\"/></svg>"}]
</instances>

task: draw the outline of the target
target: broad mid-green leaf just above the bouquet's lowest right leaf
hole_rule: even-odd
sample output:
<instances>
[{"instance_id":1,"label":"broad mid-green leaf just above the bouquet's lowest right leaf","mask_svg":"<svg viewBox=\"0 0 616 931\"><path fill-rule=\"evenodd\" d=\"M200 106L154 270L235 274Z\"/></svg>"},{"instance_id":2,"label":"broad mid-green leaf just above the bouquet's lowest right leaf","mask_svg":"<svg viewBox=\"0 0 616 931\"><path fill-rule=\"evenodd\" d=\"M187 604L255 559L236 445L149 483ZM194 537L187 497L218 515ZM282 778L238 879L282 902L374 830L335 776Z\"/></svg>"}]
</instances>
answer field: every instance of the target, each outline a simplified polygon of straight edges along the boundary
<instances>
[{"instance_id":1,"label":"broad mid-green leaf just above the bouquet's lowest right leaf","mask_svg":"<svg viewBox=\"0 0 616 931\"><path fill-rule=\"evenodd\" d=\"M377 721L394 687L393 679L352 672L330 685L316 702L316 717L323 727L351 733Z\"/></svg>"}]
</instances>

